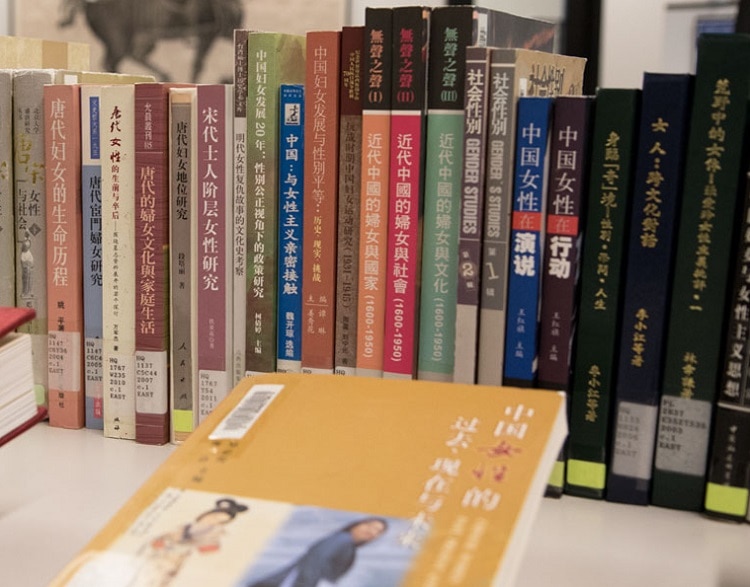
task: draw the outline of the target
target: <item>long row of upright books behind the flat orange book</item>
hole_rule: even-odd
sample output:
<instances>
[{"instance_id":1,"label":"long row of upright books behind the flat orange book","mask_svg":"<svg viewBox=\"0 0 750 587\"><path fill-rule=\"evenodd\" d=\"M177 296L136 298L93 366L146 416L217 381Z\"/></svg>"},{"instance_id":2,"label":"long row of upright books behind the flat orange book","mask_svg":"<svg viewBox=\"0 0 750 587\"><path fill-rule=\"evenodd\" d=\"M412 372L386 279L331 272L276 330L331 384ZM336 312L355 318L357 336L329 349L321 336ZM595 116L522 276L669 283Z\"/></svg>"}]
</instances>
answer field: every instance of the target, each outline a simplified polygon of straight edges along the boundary
<instances>
[{"instance_id":1,"label":"long row of upright books behind the flat orange book","mask_svg":"<svg viewBox=\"0 0 750 587\"><path fill-rule=\"evenodd\" d=\"M732 401L714 400L726 333L727 360L747 338L725 328L747 40L705 37L694 80L584 97L583 60L504 48L523 23L551 47L549 25L493 11L368 9L342 31L236 31L234 86L47 86L43 273L69 294L60 157L86 170L100 135L104 163L70 201L94 245L81 297L47 304L51 422L180 441L244 374L277 370L565 389L555 491L744 517L736 357ZM37 200L16 188L16 210ZM79 299L101 335L76 337Z\"/></svg>"}]
</instances>

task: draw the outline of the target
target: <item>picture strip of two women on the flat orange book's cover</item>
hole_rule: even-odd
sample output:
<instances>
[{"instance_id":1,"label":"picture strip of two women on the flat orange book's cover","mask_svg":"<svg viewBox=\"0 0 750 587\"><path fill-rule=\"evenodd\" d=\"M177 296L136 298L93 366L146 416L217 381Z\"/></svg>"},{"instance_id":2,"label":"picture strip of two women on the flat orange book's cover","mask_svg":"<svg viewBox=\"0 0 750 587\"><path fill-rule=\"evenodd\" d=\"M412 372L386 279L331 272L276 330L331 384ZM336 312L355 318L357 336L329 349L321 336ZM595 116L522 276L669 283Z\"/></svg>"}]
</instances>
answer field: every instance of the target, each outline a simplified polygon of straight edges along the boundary
<instances>
[{"instance_id":1,"label":"picture strip of two women on the flat orange book's cover","mask_svg":"<svg viewBox=\"0 0 750 587\"><path fill-rule=\"evenodd\" d=\"M167 488L75 583L110 587L398 585L409 520Z\"/></svg>"}]
</instances>

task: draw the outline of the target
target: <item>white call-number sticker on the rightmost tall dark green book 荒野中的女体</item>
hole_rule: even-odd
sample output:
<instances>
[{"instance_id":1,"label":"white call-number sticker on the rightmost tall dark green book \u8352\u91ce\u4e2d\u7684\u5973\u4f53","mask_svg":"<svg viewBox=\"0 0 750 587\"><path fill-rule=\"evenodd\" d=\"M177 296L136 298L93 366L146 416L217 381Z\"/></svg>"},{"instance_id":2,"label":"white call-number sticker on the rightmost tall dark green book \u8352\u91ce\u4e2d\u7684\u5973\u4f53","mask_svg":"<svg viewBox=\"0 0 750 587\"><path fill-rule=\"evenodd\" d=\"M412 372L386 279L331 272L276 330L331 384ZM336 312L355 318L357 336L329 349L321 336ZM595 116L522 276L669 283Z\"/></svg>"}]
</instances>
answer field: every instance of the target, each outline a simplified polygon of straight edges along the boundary
<instances>
[{"instance_id":1,"label":"white call-number sticker on the rightmost tall dark green book \u8352\u91ce\u4e2d\u7684\u5973\u4f53","mask_svg":"<svg viewBox=\"0 0 750 587\"><path fill-rule=\"evenodd\" d=\"M663 397L656 436L656 468L705 475L710 423L711 402Z\"/></svg>"}]
</instances>

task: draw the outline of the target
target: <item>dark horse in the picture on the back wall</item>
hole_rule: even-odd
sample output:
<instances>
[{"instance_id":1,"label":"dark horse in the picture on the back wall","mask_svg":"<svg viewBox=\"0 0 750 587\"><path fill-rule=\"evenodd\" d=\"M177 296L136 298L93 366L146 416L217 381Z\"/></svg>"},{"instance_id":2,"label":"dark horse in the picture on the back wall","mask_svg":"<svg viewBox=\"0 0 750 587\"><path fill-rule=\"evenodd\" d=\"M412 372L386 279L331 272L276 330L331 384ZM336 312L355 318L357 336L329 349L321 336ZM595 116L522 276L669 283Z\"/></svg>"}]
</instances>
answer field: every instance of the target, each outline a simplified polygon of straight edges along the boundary
<instances>
[{"instance_id":1,"label":"dark horse in the picture on the back wall","mask_svg":"<svg viewBox=\"0 0 750 587\"><path fill-rule=\"evenodd\" d=\"M191 81L197 82L214 41L231 39L243 20L241 0L89 0L84 11L106 48L107 71L118 71L120 62L130 58L163 81L169 75L149 58L160 39L194 42Z\"/></svg>"}]
</instances>

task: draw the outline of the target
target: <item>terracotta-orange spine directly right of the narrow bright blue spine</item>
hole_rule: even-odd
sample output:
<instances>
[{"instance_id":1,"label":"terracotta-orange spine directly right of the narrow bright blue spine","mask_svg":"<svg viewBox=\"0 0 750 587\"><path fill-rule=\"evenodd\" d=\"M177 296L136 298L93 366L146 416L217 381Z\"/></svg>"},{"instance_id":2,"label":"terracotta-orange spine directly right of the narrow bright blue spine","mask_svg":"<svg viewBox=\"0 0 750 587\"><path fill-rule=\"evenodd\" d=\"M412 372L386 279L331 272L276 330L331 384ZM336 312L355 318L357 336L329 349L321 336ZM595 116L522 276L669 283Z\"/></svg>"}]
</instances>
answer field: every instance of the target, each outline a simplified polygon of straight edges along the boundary
<instances>
[{"instance_id":1,"label":"terracotta-orange spine directly right of the narrow bright blue spine","mask_svg":"<svg viewBox=\"0 0 750 587\"><path fill-rule=\"evenodd\" d=\"M307 33L302 372L333 373L341 33Z\"/></svg>"}]
</instances>

